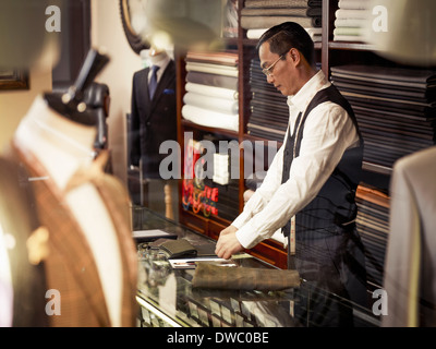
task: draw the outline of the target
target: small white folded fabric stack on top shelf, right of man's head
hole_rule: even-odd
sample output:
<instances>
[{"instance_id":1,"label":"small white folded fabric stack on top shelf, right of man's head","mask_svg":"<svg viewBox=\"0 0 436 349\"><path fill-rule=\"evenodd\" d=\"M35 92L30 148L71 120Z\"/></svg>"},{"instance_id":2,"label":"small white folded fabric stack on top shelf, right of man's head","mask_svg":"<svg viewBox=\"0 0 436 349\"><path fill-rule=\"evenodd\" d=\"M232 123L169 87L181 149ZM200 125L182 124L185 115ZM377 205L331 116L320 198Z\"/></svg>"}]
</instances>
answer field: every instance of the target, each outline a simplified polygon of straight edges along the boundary
<instances>
[{"instance_id":1,"label":"small white folded fabric stack on top shelf, right of man's head","mask_svg":"<svg viewBox=\"0 0 436 349\"><path fill-rule=\"evenodd\" d=\"M334 40L365 41L365 28L371 20L368 0L339 0L336 11Z\"/></svg>"}]
</instances>

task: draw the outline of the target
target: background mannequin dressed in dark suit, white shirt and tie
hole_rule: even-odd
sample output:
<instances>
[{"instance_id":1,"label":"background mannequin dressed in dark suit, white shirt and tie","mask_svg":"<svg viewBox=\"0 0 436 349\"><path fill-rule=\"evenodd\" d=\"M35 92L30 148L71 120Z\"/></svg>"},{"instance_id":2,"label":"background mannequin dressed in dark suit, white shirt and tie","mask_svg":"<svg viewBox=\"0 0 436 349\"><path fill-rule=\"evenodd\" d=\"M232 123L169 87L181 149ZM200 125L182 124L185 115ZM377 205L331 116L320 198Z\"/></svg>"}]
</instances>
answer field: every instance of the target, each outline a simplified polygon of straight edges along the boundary
<instances>
[{"instance_id":1,"label":"background mannequin dressed in dark suit, white shirt and tie","mask_svg":"<svg viewBox=\"0 0 436 349\"><path fill-rule=\"evenodd\" d=\"M162 180L159 173L159 165L168 156L159 154L160 145L166 141L177 141L175 64L166 50L155 46L148 51L146 61L149 67L133 76L129 158L131 168L140 171L141 189L134 188L132 178L130 191L135 204L177 220L177 183ZM155 65L159 67L157 87L150 96ZM173 198L171 210L174 216L166 209L165 192L171 192L169 197Z\"/></svg>"}]
</instances>

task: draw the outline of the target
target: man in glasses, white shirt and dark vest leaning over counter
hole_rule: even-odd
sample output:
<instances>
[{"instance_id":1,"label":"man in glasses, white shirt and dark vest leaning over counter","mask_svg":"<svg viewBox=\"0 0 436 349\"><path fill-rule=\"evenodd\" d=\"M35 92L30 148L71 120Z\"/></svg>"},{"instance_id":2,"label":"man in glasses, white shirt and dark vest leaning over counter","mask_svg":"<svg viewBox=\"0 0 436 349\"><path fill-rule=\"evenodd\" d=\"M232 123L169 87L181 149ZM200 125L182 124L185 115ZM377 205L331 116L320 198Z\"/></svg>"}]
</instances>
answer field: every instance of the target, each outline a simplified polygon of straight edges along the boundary
<instances>
[{"instance_id":1,"label":"man in glasses, white shirt and dark vest leaning over counter","mask_svg":"<svg viewBox=\"0 0 436 349\"><path fill-rule=\"evenodd\" d=\"M316 71L314 44L300 25L268 29L257 49L268 83L288 96L289 128L262 186L221 231L216 253L229 258L284 227L286 236L295 233L289 267L316 288L365 303L354 224L363 142L352 109Z\"/></svg>"}]
</instances>

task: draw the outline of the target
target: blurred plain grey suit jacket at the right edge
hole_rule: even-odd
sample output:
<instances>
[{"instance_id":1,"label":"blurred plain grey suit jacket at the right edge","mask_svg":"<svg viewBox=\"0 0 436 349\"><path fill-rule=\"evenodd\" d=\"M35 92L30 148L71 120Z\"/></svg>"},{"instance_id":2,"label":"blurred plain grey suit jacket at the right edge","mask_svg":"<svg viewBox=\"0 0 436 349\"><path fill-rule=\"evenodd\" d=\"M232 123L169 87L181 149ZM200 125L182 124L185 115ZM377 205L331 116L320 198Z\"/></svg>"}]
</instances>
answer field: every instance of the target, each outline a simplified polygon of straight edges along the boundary
<instances>
[{"instance_id":1,"label":"blurred plain grey suit jacket at the right edge","mask_svg":"<svg viewBox=\"0 0 436 349\"><path fill-rule=\"evenodd\" d=\"M436 326L435 173L436 146L393 166L384 326Z\"/></svg>"}]
</instances>

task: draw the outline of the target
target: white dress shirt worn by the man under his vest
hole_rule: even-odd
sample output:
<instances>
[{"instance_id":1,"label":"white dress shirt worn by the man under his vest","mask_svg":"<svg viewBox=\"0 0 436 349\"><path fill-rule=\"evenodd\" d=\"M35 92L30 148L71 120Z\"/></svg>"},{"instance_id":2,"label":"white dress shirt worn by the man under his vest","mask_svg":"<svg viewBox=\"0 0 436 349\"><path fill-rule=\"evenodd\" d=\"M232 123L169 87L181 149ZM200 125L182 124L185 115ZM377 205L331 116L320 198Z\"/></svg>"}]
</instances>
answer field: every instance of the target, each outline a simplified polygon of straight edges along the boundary
<instances>
[{"instance_id":1,"label":"white dress shirt worn by the man under his vest","mask_svg":"<svg viewBox=\"0 0 436 349\"><path fill-rule=\"evenodd\" d=\"M291 132L299 113L304 115L315 94L328 86L330 83L319 71L294 96L288 97ZM281 184L282 146L263 184L232 222L242 246L252 249L283 227L317 195L344 151L354 146L359 146L359 135L347 111L331 101L316 106L305 121L300 156L292 161L289 180Z\"/></svg>"}]
</instances>

